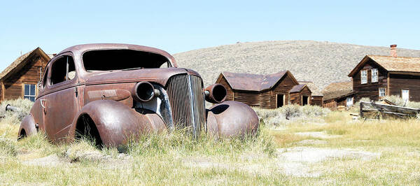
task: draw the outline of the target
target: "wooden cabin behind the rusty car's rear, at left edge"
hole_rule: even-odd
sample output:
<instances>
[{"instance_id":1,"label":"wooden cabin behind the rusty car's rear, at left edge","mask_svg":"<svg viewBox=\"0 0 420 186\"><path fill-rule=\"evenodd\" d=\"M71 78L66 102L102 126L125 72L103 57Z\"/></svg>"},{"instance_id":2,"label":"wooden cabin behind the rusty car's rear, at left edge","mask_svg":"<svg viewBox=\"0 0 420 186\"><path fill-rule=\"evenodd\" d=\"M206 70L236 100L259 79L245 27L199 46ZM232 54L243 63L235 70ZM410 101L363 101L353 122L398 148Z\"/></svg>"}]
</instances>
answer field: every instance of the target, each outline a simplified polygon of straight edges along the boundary
<instances>
[{"instance_id":1,"label":"wooden cabin behind the rusty car's rear, at left edge","mask_svg":"<svg viewBox=\"0 0 420 186\"><path fill-rule=\"evenodd\" d=\"M4 69L0 73L0 101L18 98L35 101L37 84L50 57L41 48L36 48Z\"/></svg>"}]
</instances>

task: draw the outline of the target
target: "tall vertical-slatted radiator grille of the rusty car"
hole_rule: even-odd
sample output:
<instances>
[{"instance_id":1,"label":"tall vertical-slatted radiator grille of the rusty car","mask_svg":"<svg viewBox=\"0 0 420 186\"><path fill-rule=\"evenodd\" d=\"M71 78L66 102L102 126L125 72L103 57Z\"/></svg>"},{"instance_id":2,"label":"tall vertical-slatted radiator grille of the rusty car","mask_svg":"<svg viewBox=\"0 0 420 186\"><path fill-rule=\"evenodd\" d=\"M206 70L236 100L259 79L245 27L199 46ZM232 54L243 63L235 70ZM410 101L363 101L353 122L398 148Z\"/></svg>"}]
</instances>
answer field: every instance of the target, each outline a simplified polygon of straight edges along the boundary
<instances>
[{"instance_id":1,"label":"tall vertical-slatted radiator grille of the rusty car","mask_svg":"<svg viewBox=\"0 0 420 186\"><path fill-rule=\"evenodd\" d=\"M186 129L197 138L206 124L202 79L188 74L172 76L167 92L175 128Z\"/></svg>"}]
</instances>

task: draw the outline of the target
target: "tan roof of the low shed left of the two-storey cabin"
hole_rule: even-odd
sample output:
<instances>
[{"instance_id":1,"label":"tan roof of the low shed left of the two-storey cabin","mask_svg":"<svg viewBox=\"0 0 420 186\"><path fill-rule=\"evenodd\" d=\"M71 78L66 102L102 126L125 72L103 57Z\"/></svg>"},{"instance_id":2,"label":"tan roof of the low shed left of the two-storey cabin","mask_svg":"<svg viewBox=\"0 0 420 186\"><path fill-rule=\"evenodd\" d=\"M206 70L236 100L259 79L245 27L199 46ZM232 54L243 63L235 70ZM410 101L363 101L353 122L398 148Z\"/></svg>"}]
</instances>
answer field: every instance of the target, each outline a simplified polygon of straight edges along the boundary
<instances>
[{"instance_id":1,"label":"tan roof of the low shed left of the two-storey cabin","mask_svg":"<svg viewBox=\"0 0 420 186\"><path fill-rule=\"evenodd\" d=\"M322 90L324 100L336 99L353 92L353 81L330 83Z\"/></svg>"}]
</instances>

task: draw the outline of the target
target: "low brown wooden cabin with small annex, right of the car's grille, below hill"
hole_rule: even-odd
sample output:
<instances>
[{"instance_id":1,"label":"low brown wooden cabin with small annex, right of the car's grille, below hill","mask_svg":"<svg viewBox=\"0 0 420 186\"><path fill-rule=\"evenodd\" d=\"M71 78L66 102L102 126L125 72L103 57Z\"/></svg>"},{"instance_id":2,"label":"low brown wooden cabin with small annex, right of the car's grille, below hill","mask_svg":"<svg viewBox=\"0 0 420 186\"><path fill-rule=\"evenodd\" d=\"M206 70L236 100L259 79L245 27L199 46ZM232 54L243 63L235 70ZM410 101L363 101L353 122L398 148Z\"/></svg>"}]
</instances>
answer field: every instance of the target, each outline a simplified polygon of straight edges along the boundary
<instances>
[{"instance_id":1,"label":"low brown wooden cabin with small annex, right of the car's grille, below hill","mask_svg":"<svg viewBox=\"0 0 420 186\"><path fill-rule=\"evenodd\" d=\"M226 100L240 101L248 106L279 108L290 103L302 105L311 101L309 87L295 87L299 83L290 71L269 75L223 72L216 83L221 83L228 90Z\"/></svg>"}]
</instances>

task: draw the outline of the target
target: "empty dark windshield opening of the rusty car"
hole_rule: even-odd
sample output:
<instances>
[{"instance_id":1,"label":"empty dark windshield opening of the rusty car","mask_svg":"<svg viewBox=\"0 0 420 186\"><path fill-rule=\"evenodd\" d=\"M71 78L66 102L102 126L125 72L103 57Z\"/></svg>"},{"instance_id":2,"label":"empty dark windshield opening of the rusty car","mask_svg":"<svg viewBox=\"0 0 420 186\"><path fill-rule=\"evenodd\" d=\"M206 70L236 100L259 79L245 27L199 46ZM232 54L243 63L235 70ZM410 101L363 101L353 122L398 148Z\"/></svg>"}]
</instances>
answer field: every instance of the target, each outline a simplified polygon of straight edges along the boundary
<instances>
[{"instance_id":1,"label":"empty dark windshield opening of the rusty car","mask_svg":"<svg viewBox=\"0 0 420 186\"><path fill-rule=\"evenodd\" d=\"M92 50L83 54L86 71L116 71L167 68L171 64L162 55L138 50Z\"/></svg>"}]
</instances>

